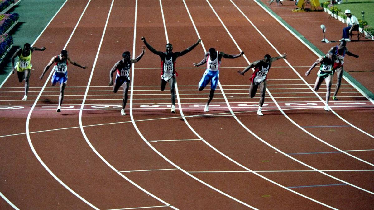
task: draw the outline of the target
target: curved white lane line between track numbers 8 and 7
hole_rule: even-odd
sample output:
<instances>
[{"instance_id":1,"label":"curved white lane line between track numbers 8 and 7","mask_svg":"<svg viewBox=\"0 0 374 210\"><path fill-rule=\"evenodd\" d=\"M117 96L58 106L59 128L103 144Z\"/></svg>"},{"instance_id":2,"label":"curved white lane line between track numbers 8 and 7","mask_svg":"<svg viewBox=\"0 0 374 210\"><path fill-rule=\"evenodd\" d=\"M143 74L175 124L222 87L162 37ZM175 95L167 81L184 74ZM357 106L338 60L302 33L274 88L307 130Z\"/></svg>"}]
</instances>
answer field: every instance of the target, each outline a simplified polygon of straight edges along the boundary
<instances>
[{"instance_id":1,"label":"curved white lane line between track numbers 8 and 7","mask_svg":"<svg viewBox=\"0 0 374 210\"><path fill-rule=\"evenodd\" d=\"M66 2L66 1L65 1L65 2ZM85 14L86 9L87 9L87 7L88 7L88 5L89 5L90 2L91 2L91 0L89 0L89 1L87 2L87 5L86 5L85 9L83 10L82 14L80 15L80 17L79 17L79 19L78 19L78 22L77 22L77 24L75 25L73 31L71 32L70 37L69 37L68 41L66 42L66 44L65 44L65 46L64 46L63 49L65 49L65 48L67 47L67 45L68 45L68 43L69 43L71 37L73 36L75 30L77 29L77 27L78 27L78 25L79 25L79 23L80 23L80 20L82 19L83 15ZM60 8L60 9L61 9L61 8ZM27 120L26 120L26 135L27 135L27 141L28 141L28 144L30 145L31 150L33 151L35 157L39 160L40 164L42 164L42 166L47 170L47 172L48 172L50 175L53 176L53 178L55 178L55 179L56 179L56 180L57 180L57 181L58 181L62 186L64 186L66 189L68 189L68 191L70 191L72 194L74 194L74 195L75 195L76 197L78 197L80 200L82 200L83 202L85 202L86 204L88 204L89 206L91 206L91 208L98 210L98 208L97 208L96 206L93 206L93 204L89 203L89 202L88 202L87 200L85 200L83 197L81 197L80 195L78 195L75 191L73 191L73 189L71 189L71 188L70 188L69 186L67 186L64 182L62 182L62 180L59 179L59 178L58 178L58 177L57 177L57 176L56 176L56 175L55 175L55 174L54 174L54 173L53 173L53 172L48 168L48 166L43 162L42 158L40 158L39 155L38 155L38 153L36 152L36 150L35 150L35 148L34 148L34 145L33 145L33 142L31 142L31 138L30 138L30 129L29 129L29 124L30 124L31 114L33 113L33 109L35 108L35 105L36 105L38 99L39 99L40 96L42 95L42 92L43 92L44 88L46 87L47 83L49 82L49 79L50 79L52 73L53 73L53 71L50 72L50 74L49 74L47 80L46 80L45 83L44 83L44 86L42 87L42 90L40 90L40 93L39 93L38 97L36 98L36 100L35 100L33 106L31 107L30 112L28 112Z\"/></svg>"}]
</instances>

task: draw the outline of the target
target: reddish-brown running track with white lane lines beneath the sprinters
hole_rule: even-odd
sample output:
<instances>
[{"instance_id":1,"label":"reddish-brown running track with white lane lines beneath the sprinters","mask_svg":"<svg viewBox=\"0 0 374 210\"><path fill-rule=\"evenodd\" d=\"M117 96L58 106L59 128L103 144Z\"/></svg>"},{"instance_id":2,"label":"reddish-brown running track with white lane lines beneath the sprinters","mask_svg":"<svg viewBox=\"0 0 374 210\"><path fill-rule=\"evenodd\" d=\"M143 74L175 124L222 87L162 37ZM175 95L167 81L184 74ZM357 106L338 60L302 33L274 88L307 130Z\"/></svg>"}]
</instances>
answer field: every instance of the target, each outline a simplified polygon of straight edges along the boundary
<instances>
[{"instance_id":1,"label":"reddish-brown running track with white lane lines beneath the sprinters","mask_svg":"<svg viewBox=\"0 0 374 210\"><path fill-rule=\"evenodd\" d=\"M140 54L142 36L174 51L202 39L177 59L176 114L159 90L159 57L147 50L131 69L130 115L120 116L122 92L107 86L108 72L124 50ZM303 76L317 56L255 1L69 0L34 45L47 50L33 54L28 101L15 75L0 88L0 209L374 206L373 103L343 81L341 101L325 112L325 86L311 89L317 69ZM64 46L89 68L69 65L56 113L59 89L38 77ZM210 47L245 56L223 59L203 112L209 88L197 90L204 69L192 63ZM257 116L249 73L236 72L283 52Z\"/></svg>"}]
</instances>

